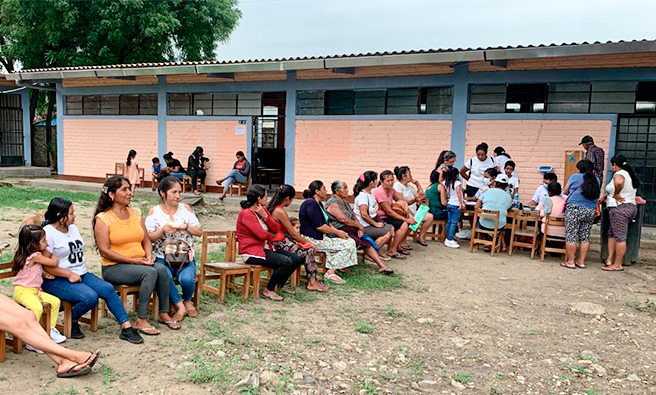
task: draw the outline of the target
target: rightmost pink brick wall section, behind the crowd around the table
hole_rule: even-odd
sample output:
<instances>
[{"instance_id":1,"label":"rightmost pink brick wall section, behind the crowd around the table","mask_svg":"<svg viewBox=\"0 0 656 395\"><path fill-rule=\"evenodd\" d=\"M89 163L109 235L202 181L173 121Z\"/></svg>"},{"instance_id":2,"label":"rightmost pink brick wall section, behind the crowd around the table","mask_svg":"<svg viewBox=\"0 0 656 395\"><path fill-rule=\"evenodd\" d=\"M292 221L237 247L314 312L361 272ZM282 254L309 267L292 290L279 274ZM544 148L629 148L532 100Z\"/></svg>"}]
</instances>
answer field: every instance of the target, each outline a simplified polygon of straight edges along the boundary
<instances>
[{"instance_id":1,"label":"rightmost pink brick wall section, behind the crowd around the table","mask_svg":"<svg viewBox=\"0 0 656 395\"><path fill-rule=\"evenodd\" d=\"M563 188L565 177L565 151L583 150L578 145L583 136L590 135L606 152L610 141L611 121L593 120L472 120L467 121L465 158L475 156L476 146L486 142L489 154L502 146L517 164L520 179L520 199L530 201L533 192L542 183L538 166L553 166Z\"/></svg>"}]
</instances>

